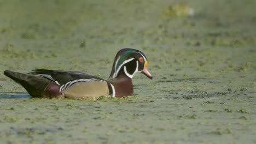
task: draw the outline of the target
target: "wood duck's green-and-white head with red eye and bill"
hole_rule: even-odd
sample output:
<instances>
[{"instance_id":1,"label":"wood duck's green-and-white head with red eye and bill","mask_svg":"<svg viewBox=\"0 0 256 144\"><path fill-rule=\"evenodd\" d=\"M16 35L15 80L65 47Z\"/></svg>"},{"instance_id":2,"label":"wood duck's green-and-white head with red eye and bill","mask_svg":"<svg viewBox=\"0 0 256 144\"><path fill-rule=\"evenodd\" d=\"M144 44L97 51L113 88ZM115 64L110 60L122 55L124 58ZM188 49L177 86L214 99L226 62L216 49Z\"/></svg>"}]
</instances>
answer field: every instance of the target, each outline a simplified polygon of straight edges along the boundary
<instances>
[{"instance_id":1,"label":"wood duck's green-and-white head with red eye and bill","mask_svg":"<svg viewBox=\"0 0 256 144\"><path fill-rule=\"evenodd\" d=\"M115 56L115 61L109 79L128 77L132 79L137 72L152 79L149 73L147 57L143 52L135 49L121 49Z\"/></svg>"}]
</instances>

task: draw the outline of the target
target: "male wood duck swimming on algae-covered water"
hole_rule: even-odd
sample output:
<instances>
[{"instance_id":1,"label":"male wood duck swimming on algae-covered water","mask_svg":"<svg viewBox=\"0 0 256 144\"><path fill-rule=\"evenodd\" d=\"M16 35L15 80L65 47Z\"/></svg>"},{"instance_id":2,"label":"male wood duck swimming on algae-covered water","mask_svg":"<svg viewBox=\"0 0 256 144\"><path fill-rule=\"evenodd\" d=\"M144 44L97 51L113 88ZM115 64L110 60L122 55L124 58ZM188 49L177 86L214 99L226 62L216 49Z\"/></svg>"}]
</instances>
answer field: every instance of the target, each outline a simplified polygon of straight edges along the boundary
<instances>
[{"instance_id":1,"label":"male wood duck swimming on algae-covered water","mask_svg":"<svg viewBox=\"0 0 256 144\"><path fill-rule=\"evenodd\" d=\"M143 52L122 49L115 56L109 79L78 71L36 69L23 74L5 70L4 75L20 83L32 98L126 97L133 95L132 77L141 72L150 79Z\"/></svg>"}]
</instances>

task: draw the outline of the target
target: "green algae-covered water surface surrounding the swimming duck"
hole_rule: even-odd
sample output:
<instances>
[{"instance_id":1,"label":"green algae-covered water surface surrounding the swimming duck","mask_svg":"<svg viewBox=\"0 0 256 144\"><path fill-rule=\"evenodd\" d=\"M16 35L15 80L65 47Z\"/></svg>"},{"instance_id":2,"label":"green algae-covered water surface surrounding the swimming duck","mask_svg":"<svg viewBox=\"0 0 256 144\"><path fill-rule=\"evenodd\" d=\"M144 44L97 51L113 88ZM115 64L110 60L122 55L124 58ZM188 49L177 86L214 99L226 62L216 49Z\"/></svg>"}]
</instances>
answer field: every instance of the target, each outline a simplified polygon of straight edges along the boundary
<instances>
[{"instance_id":1,"label":"green algae-covered water surface surrounding the swimming duck","mask_svg":"<svg viewBox=\"0 0 256 144\"><path fill-rule=\"evenodd\" d=\"M0 1L0 143L256 143L255 1ZM30 99L4 70L107 79L148 58L128 98Z\"/></svg>"}]
</instances>

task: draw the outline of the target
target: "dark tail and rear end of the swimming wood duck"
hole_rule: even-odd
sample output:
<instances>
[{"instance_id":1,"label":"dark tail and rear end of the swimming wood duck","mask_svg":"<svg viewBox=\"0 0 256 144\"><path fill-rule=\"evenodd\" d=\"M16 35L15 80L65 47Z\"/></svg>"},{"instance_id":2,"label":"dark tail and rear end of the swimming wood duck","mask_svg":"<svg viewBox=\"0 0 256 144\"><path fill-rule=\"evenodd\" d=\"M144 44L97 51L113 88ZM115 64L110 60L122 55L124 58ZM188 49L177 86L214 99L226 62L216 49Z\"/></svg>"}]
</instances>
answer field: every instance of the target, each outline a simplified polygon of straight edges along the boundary
<instances>
[{"instance_id":1,"label":"dark tail and rear end of the swimming wood duck","mask_svg":"<svg viewBox=\"0 0 256 144\"><path fill-rule=\"evenodd\" d=\"M40 76L22 74L10 70L5 70L4 75L10 77L15 82L20 83L20 85L34 98L42 98L45 87L52 82Z\"/></svg>"}]
</instances>

